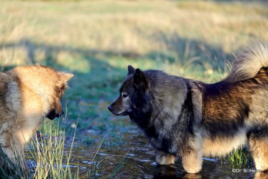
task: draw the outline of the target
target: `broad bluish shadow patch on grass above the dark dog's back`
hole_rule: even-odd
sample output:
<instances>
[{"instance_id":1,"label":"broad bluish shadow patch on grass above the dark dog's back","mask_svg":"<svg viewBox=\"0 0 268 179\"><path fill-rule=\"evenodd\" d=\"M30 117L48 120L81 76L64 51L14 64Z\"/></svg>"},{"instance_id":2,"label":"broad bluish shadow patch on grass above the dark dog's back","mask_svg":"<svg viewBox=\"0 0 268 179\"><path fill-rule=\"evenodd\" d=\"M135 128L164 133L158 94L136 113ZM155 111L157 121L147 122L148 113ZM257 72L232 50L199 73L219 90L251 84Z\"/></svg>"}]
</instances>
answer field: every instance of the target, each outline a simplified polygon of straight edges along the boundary
<instances>
[{"instance_id":1,"label":"broad bluish shadow patch on grass above the dark dog's back","mask_svg":"<svg viewBox=\"0 0 268 179\"><path fill-rule=\"evenodd\" d=\"M224 52L221 47L181 38L177 32L173 33L171 36L167 36L164 32L159 31L153 38L154 41L162 41L171 53L166 54L160 51L151 51L147 56L152 59L166 58L171 63L174 63L176 59L180 62L186 62L190 58L198 56L200 60L195 63L209 62L214 68L223 68L226 61L232 59L233 56ZM172 54L172 52L175 52L175 54Z\"/></svg>"}]
</instances>

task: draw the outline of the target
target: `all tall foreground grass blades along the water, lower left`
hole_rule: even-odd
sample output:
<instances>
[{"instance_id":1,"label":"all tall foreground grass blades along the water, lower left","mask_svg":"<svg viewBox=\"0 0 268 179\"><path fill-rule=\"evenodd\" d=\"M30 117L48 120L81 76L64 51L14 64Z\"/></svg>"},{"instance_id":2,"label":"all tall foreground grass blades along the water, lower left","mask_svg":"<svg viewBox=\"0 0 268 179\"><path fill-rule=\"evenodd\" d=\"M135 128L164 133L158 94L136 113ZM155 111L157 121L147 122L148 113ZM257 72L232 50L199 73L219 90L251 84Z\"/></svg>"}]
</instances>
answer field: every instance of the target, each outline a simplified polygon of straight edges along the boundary
<instances>
[{"instance_id":1,"label":"all tall foreground grass blades along the water, lower left","mask_svg":"<svg viewBox=\"0 0 268 179\"><path fill-rule=\"evenodd\" d=\"M0 165L0 176L2 179L10 179L10 177L14 179L79 179L79 166L75 166L77 168L76 170L70 168L76 128L73 133L72 144L68 150L65 144L65 128L61 128L59 123L57 127L49 123L45 128L49 129L49 131L46 132L47 135L44 135L45 132L41 133L41 136L36 133L26 146L27 152L30 153L30 155L26 156L29 168L24 167L24 161L21 161L19 157L15 157L15 163L12 163L6 155L0 151L2 161ZM101 177L103 172L102 168L105 167L103 162L109 157L119 156L122 160L115 166L114 171L110 174L110 179L114 178L131 152L128 151L125 156L107 156L106 152L110 146L107 147L104 145L103 141L104 139L93 156L92 162L88 165L88 179L98 179ZM105 154L103 155L103 153ZM15 156L17 155L18 154L15 154Z\"/></svg>"}]
</instances>

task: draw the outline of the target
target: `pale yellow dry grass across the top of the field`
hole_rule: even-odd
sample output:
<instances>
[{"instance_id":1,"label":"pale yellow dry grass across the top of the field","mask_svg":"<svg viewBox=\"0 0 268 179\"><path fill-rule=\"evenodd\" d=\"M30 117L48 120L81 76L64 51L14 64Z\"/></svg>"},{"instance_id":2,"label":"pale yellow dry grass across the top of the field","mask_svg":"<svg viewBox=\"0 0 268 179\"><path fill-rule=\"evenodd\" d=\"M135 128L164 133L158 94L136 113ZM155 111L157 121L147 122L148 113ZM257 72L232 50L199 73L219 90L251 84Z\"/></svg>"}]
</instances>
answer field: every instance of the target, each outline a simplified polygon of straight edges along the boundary
<instances>
[{"instance_id":1,"label":"pale yellow dry grass across the top of the field","mask_svg":"<svg viewBox=\"0 0 268 179\"><path fill-rule=\"evenodd\" d=\"M136 56L155 51L177 54L183 52L186 42L193 42L197 44L193 48L204 53L216 50L230 54L251 39L268 41L267 5L213 1L1 1L0 65L19 65L29 62L29 58L42 62L48 49L44 45L71 48L73 52L84 49ZM33 54L29 54L31 51Z\"/></svg>"}]
</instances>

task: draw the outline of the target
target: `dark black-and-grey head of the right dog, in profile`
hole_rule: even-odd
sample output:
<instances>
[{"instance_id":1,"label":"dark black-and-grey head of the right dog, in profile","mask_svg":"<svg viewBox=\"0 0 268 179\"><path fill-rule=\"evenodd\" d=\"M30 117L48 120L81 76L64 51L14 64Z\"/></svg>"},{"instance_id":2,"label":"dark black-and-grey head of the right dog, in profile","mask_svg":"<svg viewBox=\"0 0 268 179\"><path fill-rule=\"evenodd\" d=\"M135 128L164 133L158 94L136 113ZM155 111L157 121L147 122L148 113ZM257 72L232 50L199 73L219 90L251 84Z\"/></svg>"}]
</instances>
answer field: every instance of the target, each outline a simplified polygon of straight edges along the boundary
<instances>
[{"instance_id":1,"label":"dark black-and-grey head of the right dog, in profile","mask_svg":"<svg viewBox=\"0 0 268 179\"><path fill-rule=\"evenodd\" d=\"M126 116L137 110L146 110L148 78L140 69L128 66L128 74L120 88L119 98L108 106L117 116Z\"/></svg>"}]
</instances>

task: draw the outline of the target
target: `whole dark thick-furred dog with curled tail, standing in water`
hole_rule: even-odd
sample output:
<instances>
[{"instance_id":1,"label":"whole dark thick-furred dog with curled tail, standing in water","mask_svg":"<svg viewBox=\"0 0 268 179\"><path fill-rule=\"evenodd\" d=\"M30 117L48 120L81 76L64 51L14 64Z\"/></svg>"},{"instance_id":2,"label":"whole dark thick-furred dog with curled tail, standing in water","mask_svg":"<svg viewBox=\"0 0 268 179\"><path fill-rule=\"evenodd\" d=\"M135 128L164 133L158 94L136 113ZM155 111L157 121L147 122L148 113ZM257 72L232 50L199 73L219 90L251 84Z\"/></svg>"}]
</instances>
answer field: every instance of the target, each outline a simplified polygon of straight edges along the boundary
<instances>
[{"instance_id":1,"label":"whole dark thick-furred dog with curled tail, standing in water","mask_svg":"<svg viewBox=\"0 0 268 179\"><path fill-rule=\"evenodd\" d=\"M268 170L268 45L236 56L230 74L214 84L128 67L109 110L129 115L156 149L159 164L181 158L198 173L202 156L222 156L248 144L256 169Z\"/></svg>"}]
</instances>

